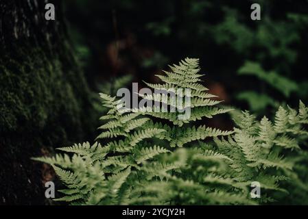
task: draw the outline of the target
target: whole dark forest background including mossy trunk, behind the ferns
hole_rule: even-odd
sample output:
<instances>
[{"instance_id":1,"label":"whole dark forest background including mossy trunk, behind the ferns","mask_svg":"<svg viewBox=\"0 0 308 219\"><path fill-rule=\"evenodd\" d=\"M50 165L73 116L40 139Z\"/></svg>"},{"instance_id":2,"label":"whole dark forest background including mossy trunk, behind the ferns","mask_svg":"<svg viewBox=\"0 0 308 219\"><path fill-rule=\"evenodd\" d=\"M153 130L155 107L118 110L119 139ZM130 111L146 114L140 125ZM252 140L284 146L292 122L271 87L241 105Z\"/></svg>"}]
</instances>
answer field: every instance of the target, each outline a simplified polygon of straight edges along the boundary
<instances>
[{"instance_id":1,"label":"whole dark forest background including mossy trunk, behind the ferns","mask_svg":"<svg viewBox=\"0 0 308 219\"><path fill-rule=\"evenodd\" d=\"M45 21L46 3L56 21ZM307 0L0 0L0 31L0 204L49 204L54 172L30 157L94 140L97 92L157 82L185 57L200 58L225 105L272 116L308 103Z\"/></svg>"}]
</instances>

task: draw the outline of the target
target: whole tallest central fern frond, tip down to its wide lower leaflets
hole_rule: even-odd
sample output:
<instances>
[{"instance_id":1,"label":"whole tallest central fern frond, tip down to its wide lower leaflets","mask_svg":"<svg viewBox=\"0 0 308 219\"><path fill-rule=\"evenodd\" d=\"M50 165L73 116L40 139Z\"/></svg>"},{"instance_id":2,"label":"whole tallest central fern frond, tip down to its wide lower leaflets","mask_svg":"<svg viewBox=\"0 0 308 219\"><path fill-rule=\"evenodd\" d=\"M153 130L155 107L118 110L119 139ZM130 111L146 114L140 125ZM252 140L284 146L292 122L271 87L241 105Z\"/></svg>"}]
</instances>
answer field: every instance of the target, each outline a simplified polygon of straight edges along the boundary
<instances>
[{"instance_id":1,"label":"whole tallest central fern frond, tip down to its wide lower leaflets","mask_svg":"<svg viewBox=\"0 0 308 219\"><path fill-rule=\"evenodd\" d=\"M165 129L166 132L163 133L164 138L170 142L171 147L183 146L189 142L196 140L204 140L205 138L214 136L227 136L233 131L222 131L220 129L213 129L211 127L206 127L205 125L200 125L196 127L192 123L197 120L202 120L202 118L213 118L217 114L224 114L229 112L230 109L222 109L215 107L221 101L213 100L217 97L210 94L208 88L204 87L200 81L200 68L198 59L186 58L179 65L169 66L171 71L164 71L165 75L156 75L159 77L163 83L162 84L152 84L146 83L150 88L158 90L184 90L185 88L190 88L190 94L182 94L183 99L189 98L191 108L191 115L183 120L179 119L179 114L183 108L182 105L174 105L172 97L162 94L161 96L153 95L142 95L144 99L155 100L169 107L175 107L176 113L165 113L165 112L145 112L148 116L154 118L160 118L171 122L171 126L164 123L148 123L149 127L156 127L159 129ZM184 126L183 126L184 125ZM187 126L185 126L187 125Z\"/></svg>"}]
</instances>

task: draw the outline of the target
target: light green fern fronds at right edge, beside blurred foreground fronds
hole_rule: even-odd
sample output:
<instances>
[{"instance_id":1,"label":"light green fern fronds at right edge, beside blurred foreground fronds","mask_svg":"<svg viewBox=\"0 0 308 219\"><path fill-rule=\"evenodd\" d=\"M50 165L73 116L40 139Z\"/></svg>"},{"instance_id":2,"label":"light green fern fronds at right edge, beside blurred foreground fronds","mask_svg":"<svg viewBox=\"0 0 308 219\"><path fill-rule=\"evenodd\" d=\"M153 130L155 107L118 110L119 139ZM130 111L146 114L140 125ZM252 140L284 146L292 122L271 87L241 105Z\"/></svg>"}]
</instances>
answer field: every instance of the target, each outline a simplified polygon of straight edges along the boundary
<instances>
[{"instance_id":1,"label":"light green fern fronds at right edge, beside blurred foreground fronds","mask_svg":"<svg viewBox=\"0 0 308 219\"><path fill-rule=\"evenodd\" d=\"M305 109L307 107L300 103L299 111L305 111ZM253 117L250 114L245 112L241 118L245 121L244 124L239 124L241 129L235 129L235 134L230 136L228 141L216 138L215 142L221 153L230 154L231 151L235 151L232 150L234 145L239 147L236 150L237 154L230 155L231 158L237 157L229 162L229 166L233 169L230 171L233 179L259 181L265 189L285 191L279 188L278 182L288 179L286 174L294 168L294 162L291 162L290 158L283 157L284 151L300 150L299 145L303 143L303 139L307 138L307 131L302 130L300 117L302 117L300 113L294 114L294 110L289 107L287 110L279 107L272 125L266 117L257 123L252 120ZM296 120L298 122L294 123ZM279 169L279 171L271 170L275 175L268 175L270 172L268 168ZM250 175L242 177L242 172L239 170L250 172ZM281 175L277 175L278 172Z\"/></svg>"}]
</instances>

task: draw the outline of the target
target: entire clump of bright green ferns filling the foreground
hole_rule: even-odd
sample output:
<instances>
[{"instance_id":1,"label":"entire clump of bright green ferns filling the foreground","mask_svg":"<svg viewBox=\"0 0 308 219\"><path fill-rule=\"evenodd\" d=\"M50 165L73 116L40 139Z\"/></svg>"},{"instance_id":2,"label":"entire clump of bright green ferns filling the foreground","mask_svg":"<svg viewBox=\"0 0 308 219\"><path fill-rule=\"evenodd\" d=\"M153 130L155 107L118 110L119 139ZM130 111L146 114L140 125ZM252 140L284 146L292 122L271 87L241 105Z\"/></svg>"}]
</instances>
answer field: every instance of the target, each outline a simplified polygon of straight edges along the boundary
<instances>
[{"instance_id":1,"label":"entire clump of bright green ferns filling the foreground","mask_svg":"<svg viewBox=\"0 0 308 219\"><path fill-rule=\"evenodd\" d=\"M92 146L86 142L60 150L68 155L35 158L51 164L67 186L58 201L77 205L123 204L257 204L273 201L275 192L287 192L279 182L295 179L292 159L285 151L300 151L307 138L307 107L300 103L297 113L282 107L274 124L263 118L256 122L244 112L238 127L222 131L194 125L203 118L224 114L230 109L216 105L212 94L200 83L197 59L185 59L158 75L159 90L190 88L191 115L179 119L182 106L171 96L143 94L176 112L130 110L119 112L120 101L100 94L108 112L100 119L102 133ZM188 96L189 95L189 96ZM225 137L224 137L225 136ZM214 142L211 141L214 139ZM293 152L292 151L292 152ZM292 155L289 155L292 157ZM259 181L265 194L261 200L249 196L250 183ZM298 179L299 181L299 179ZM279 197L279 196L278 196Z\"/></svg>"}]
</instances>

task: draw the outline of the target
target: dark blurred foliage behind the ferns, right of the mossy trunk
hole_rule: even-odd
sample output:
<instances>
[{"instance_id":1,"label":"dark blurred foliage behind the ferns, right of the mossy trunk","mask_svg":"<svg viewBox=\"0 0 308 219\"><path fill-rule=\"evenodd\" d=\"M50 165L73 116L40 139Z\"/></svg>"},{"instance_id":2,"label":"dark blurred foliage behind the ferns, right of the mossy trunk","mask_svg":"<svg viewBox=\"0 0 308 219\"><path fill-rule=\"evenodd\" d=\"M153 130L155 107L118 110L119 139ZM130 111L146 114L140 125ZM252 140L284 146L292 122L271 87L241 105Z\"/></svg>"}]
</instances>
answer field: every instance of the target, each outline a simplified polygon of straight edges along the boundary
<instances>
[{"instance_id":1,"label":"dark blurred foliage behind the ferns, right of the mossy trunk","mask_svg":"<svg viewBox=\"0 0 308 219\"><path fill-rule=\"evenodd\" d=\"M250 19L252 3L261 5L261 21ZM137 74L134 79L151 80L154 70L185 54L200 57L202 68L211 73L209 79L226 84L228 99L237 107L249 107L261 115L272 112L275 103L308 101L306 0L79 0L65 4L73 29L91 51L90 81L110 74L102 66L102 54L117 34L118 40L133 38L130 46L119 51L119 60L130 66L117 69L118 75ZM254 72L257 78L237 74L244 71ZM257 106L258 98L265 103Z\"/></svg>"}]
</instances>

